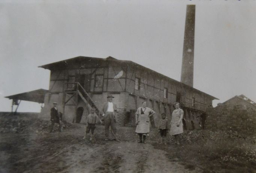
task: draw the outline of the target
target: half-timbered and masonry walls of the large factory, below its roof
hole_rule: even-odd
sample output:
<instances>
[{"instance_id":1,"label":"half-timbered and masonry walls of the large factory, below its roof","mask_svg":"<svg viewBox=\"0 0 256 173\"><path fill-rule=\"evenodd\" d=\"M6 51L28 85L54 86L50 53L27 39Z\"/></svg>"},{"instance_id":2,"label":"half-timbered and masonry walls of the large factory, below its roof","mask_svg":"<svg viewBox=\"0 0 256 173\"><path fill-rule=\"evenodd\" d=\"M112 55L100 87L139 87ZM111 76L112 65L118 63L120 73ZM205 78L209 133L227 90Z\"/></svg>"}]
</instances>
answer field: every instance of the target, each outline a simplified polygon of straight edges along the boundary
<instances>
[{"instance_id":1,"label":"half-timbered and masonry walls of the large factory, below its roof","mask_svg":"<svg viewBox=\"0 0 256 173\"><path fill-rule=\"evenodd\" d=\"M114 76L120 71L123 71L123 75L114 79ZM135 87L136 78L140 82L138 89ZM150 69L133 64L129 65L129 63L92 59L84 62L74 62L66 66L65 69L51 71L49 93L45 96L45 107L42 112L46 113L48 111L49 113L53 102L58 102L58 110L65 112L64 119L73 122L77 107L83 107L84 117L82 117L81 122L86 122L86 116L89 113L87 105L84 104L83 100L78 99L79 96L68 101L72 93L67 94L65 92L68 86L66 83L75 82L79 82L84 87L99 110L101 110L103 103L107 101L107 93L113 93L114 102L119 108L120 125L125 125L125 118L127 118L125 115L129 112L131 113L130 119L134 121L134 111L141 106L142 101L146 101L148 107L156 111L154 125L158 124L161 113L166 113L168 119L171 120L173 104L178 99L177 93L180 93L180 100L184 103L184 106L194 110L205 111L206 107L212 102L208 95ZM164 98L164 90L166 90L167 98ZM192 106L193 98L195 99L194 106ZM66 102L66 106L63 106L64 102ZM64 107L65 110L63 110ZM186 111L186 116L190 116L186 117L188 129L191 129L191 121L198 125L198 119L196 119L198 113L190 110Z\"/></svg>"}]
</instances>

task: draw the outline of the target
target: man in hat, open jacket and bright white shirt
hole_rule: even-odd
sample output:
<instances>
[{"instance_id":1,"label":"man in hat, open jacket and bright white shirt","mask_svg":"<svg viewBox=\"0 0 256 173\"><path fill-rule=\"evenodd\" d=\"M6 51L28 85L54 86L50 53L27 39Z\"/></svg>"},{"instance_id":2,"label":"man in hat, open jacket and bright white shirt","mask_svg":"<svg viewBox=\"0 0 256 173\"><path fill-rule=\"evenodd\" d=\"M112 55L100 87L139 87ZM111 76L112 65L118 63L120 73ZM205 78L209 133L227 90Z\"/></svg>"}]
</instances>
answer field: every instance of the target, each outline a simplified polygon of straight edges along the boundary
<instances>
[{"instance_id":1,"label":"man in hat, open jacket and bright white shirt","mask_svg":"<svg viewBox=\"0 0 256 173\"><path fill-rule=\"evenodd\" d=\"M117 113L117 106L114 104L113 101L114 96L112 96L110 93L108 93L107 99L108 101L103 104L102 112L103 119L105 123L105 140L108 140L108 134L109 134L109 126L111 127L111 132L114 136L113 140L117 140L116 135L116 117L115 114Z\"/></svg>"}]
</instances>

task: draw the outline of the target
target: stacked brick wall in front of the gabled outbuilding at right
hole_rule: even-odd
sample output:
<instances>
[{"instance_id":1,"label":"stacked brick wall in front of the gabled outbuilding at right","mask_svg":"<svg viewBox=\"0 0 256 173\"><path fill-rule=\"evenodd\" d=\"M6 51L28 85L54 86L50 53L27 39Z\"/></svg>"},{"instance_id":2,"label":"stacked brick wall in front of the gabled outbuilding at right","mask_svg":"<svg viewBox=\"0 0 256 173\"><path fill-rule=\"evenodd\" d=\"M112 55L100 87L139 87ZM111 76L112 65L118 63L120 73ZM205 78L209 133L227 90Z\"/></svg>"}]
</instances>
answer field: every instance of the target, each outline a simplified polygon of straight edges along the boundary
<instances>
[{"instance_id":1,"label":"stacked brick wall in front of the gabled outbuilding at right","mask_svg":"<svg viewBox=\"0 0 256 173\"><path fill-rule=\"evenodd\" d=\"M256 132L256 111L216 107L206 110L205 129L238 131L246 134Z\"/></svg>"}]
</instances>

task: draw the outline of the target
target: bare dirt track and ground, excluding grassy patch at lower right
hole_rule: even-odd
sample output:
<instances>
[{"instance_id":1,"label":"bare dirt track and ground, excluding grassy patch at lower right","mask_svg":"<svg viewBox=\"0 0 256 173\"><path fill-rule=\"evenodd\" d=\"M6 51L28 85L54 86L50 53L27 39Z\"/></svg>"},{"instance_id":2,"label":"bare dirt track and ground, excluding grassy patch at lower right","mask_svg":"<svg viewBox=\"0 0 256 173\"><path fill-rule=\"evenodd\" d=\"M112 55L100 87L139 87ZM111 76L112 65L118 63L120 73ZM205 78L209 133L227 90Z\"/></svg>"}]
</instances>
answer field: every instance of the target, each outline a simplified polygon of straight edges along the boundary
<instances>
[{"instance_id":1,"label":"bare dirt track and ground, excluding grassy patch at lower right","mask_svg":"<svg viewBox=\"0 0 256 173\"><path fill-rule=\"evenodd\" d=\"M36 127L34 127L36 128ZM0 172L59 173L172 173L202 172L188 170L177 158L167 158L155 149L157 139L137 143L134 128L119 128L120 142L104 141L103 126L96 128L96 143L83 140L84 125L72 125L63 132L0 136ZM175 147L169 144L163 147Z\"/></svg>"}]
</instances>

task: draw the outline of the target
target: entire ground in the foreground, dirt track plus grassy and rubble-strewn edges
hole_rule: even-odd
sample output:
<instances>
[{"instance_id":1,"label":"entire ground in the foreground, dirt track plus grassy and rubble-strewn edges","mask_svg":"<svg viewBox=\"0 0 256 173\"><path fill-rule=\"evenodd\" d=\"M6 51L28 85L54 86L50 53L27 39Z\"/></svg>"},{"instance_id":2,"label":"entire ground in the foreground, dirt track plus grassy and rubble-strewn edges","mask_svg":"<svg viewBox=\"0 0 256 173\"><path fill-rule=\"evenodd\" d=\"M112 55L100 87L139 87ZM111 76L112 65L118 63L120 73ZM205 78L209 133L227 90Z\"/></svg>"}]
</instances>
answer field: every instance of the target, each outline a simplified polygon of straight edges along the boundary
<instances>
[{"instance_id":1,"label":"entire ground in the foreground, dirt track plus grassy and rubble-strewn edges","mask_svg":"<svg viewBox=\"0 0 256 173\"><path fill-rule=\"evenodd\" d=\"M118 127L120 142L83 140L85 125L64 123L49 133L50 121L35 113L0 113L0 173L240 173L256 172L256 137L236 131L184 131L180 145L152 129L146 144L137 143L134 128ZM224 139L224 140L223 140Z\"/></svg>"}]
</instances>

